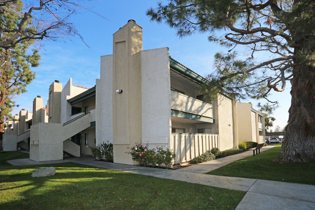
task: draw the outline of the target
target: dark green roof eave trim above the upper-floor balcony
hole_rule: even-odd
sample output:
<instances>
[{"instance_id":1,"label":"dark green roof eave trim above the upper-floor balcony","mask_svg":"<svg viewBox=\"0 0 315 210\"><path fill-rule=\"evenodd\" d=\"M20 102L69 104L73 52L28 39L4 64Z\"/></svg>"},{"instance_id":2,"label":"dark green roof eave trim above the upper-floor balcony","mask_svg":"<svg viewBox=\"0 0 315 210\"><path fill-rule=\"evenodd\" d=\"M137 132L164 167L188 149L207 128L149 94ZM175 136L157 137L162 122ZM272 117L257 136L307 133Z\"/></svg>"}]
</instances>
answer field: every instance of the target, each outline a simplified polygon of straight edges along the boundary
<instances>
[{"instance_id":1,"label":"dark green roof eave trim above the upper-floor balcony","mask_svg":"<svg viewBox=\"0 0 315 210\"><path fill-rule=\"evenodd\" d=\"M180 64L178 61L175 61L171 56L170 56L170 69L177 74L182 75L183 77L196 82L199 85L205 84L208 80L205 79L204 77L200 76L196 72L192 71L191 69L187 68L185 65ZM221 93L223 96L230 98L231 100L234 99L234 97L229 96L228 93L224 92Z\"/></svg>"}]
</instances>

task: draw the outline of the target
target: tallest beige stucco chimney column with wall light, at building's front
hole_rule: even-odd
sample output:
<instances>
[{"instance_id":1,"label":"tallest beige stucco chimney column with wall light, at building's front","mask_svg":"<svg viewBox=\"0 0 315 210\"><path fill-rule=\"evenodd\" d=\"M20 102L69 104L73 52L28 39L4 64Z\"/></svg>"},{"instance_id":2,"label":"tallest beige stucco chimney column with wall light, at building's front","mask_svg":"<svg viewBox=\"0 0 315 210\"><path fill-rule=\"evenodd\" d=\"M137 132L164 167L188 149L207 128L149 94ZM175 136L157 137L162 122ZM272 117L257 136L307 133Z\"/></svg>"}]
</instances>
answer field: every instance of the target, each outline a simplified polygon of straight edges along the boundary
<instances>
[{"instance_id":1,"label":"tallest beige stucco chimney column with wall light, at building's front","mask_svg":"<svg viewBox=\"0 0 315 210\"><path fill-rule=\"evenodd\" d=\"M117 163L133 164L126 147L141 142L141 50L142 28L134 21L113 34L113 150Z\"/></svg>"}]
</instances>

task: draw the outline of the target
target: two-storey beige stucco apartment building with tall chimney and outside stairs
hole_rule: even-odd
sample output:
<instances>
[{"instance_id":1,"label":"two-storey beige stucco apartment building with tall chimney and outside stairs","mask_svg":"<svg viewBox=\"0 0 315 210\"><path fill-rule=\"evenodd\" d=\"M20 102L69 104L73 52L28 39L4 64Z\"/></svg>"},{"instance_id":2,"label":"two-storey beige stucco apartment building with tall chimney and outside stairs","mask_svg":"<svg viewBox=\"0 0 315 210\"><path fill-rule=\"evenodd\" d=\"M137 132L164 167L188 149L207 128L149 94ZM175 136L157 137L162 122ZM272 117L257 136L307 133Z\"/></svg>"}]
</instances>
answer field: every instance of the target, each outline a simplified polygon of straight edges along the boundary
<instances>
[{"instance_id":1,"label":"two-storey beige stucco apartment building with tall chimney and outside stairs","mask_svg":"<svg viewBox=\"0 0 315 210\"><path fill-rule=\"evenodd\" d=\"M73 85L71 79L64 87L58 81L50 85L48 123L36 113L30 158L79 157L91 154L88 146L109 141L114 162L135 164L127 146L141 142L173 149L178 163L213 147L261 143L264 115L226 93L208 103L197 88L204 83L173 60L169 48L143 50L142 27L128 21L113 34L113 54L101 56L100 79L93 88Z\"/></svg>"}]
</instances>

